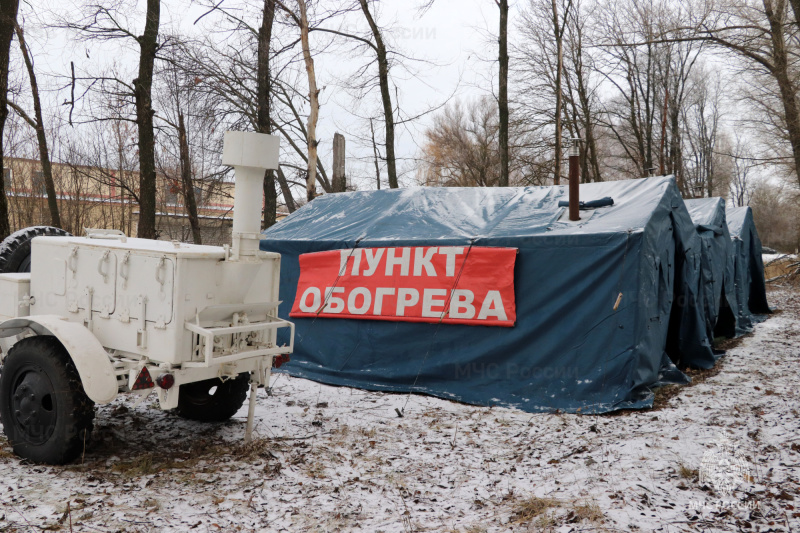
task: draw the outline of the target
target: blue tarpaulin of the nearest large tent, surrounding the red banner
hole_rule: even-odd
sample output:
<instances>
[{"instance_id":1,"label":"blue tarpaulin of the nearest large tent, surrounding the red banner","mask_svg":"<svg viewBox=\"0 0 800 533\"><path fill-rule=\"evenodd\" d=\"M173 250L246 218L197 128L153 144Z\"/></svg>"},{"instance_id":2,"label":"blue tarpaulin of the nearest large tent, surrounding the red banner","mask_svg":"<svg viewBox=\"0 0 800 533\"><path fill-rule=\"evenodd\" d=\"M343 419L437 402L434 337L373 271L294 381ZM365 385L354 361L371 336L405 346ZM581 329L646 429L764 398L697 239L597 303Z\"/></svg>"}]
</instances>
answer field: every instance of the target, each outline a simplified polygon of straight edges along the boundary
<instances>
[{"instance_id":1,"label":"blue tarpaulin of the nearest large tent, surrounding the red banner","mask_svg":"<svg viewBox=\"0 0 800 533\"><path fill-rule=\"evenodd\" d=\"M292 375L530 412L652 405L652 387L711 366L701 245L671 177L581 185L614 205L569 222L565 187L329 194L264 232L279 252L281 316L304 254L386 247L516 248L513 327L293 319ZM341 253L341 252L340 252ZM667 338L671 339L667 346ZM279 342L281 339L279 338ZM670 352L670 355L667 354Z\"/></svg>"}]
</instances>

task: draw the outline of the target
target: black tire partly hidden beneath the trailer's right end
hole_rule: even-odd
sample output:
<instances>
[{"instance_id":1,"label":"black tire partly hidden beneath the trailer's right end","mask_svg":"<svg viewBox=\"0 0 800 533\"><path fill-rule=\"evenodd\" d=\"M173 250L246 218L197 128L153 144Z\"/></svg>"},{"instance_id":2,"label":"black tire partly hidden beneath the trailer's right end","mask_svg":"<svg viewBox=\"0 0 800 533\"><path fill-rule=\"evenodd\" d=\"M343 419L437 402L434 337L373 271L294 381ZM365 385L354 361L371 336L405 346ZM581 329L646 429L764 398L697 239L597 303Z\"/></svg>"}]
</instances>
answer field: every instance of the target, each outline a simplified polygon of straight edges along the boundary
<instances>
[{"instance_id":1,"label":"black tire partly hidden beneath the trailer's right end","mask_svg":"<svg viewBox=\"0 0 800 533\"><path fill-rule=\"evenodd\" d=\"M224 422L242 407L249 389L250 374L247 373L224 383L214 378L181 385L178 414L199 422Z\"/></svg>"}]
</instances>

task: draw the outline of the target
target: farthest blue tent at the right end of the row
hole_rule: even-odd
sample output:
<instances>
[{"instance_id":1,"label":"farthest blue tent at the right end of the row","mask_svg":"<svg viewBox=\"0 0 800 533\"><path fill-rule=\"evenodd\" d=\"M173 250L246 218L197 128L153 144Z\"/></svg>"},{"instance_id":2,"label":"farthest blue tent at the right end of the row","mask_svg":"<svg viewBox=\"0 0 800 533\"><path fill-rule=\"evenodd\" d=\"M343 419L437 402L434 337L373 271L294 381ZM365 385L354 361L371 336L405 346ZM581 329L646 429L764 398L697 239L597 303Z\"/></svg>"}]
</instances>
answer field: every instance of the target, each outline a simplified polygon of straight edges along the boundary
<instances>
[{"instance_id":1,"label":"farthest blue tent at the right end of the row","mask_svg":"<svg viewBox=\"0 0 800 533\"><path fill-rule=\"evenodd\" d=\"M753 322L758 321L754 314L767 314L771 311L767 304L761 239L758 238L753 221L753 211L747 206L729 207L726 215L734 246L737 333L741 334L749 331Z\"/></svg>"}]
</instances>

